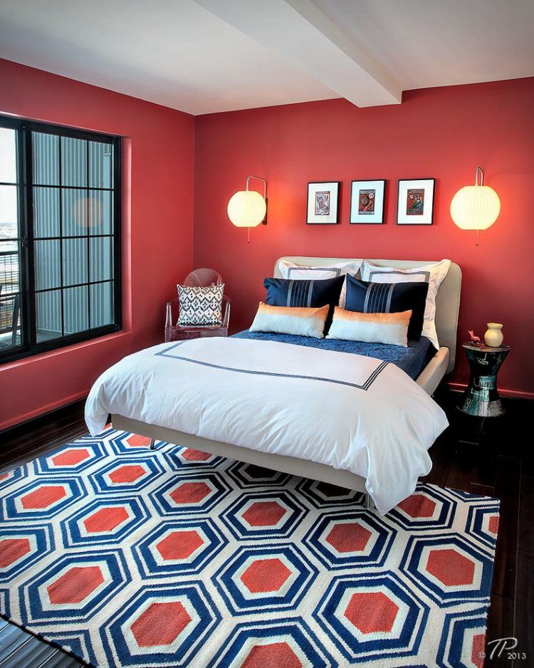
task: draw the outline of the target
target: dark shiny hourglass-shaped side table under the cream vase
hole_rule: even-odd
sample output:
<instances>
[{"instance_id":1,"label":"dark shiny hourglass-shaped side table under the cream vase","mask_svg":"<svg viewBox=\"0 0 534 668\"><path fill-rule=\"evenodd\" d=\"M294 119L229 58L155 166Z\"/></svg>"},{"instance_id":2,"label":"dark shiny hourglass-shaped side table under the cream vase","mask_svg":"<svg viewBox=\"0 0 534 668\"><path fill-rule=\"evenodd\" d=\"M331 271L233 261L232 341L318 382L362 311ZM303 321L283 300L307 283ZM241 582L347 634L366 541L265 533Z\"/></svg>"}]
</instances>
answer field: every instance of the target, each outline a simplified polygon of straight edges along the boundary
<instances>
[{"instance_id":1,"label":"dark shiny hourglass-shaped side table under the cream vase","mask_svg":"<svg viewBox=\"0 0 534 668\"><path fill-rule=\"evenodd\" d=\"M471 377L459 410L478 417L498 417L505 413L497 390L497 374L511 350L509 345L491 348L488 345L464 343Z\"/></svg>"}]
</instances>

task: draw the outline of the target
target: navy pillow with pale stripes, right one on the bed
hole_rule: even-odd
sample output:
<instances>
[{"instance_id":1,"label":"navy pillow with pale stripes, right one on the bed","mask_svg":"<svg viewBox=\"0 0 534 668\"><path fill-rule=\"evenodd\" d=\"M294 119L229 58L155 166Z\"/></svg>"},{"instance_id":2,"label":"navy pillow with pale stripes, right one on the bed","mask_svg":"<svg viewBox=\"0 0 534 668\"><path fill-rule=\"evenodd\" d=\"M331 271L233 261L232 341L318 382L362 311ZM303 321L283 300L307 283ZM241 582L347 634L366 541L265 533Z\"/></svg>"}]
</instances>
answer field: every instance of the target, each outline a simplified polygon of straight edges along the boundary
<instances>
[{"instance_id":1,"label":"navy pillow with pale stripes, right one on the bed","mask_svg":"<svg viewBox=\"0 0 534 668\"><path fill-rule=\"evenodd\" d=\"M408 325L408 339L421 338L429 284L414 283L367 283L347 275L347 310L358 313L400 313L412 310Z\"/></svg>"}]
</instances>

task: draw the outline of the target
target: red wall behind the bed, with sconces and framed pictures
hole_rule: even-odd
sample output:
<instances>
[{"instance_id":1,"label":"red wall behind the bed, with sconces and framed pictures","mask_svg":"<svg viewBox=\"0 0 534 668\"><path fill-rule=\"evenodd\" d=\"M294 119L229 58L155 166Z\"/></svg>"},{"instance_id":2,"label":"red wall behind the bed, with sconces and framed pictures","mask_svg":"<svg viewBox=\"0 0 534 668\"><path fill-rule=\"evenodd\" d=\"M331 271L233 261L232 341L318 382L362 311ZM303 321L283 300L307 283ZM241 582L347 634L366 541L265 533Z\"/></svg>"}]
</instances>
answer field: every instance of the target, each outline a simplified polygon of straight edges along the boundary
<instances>
[{"instance_id":1,"label":"red wall behind the bed, with sconces and framed pictures","mask_svg":"<svg viewBox=\"0 0 534 668\"><path fill-rule=\"evenodd\" d=\"M415 90L402 105L358 109L345 100L197 118L194 265L216 268L245 328L263 277L283 255L450 258L464 272L459 340L486 322L504 323L513 350L501 385L534 398L534 79ZM451 198L473 183L476 165L501 197L496 224L458 229ZM248 174L268 179L268 225L246 231L226 217ZM395 225L397 179L436 178L434 225ZM349 225L351 179L387 179L386 224ZM337 226L305 224L308 181L342 181ZM461 351L453 380L466 382ZM524 395L523 395L524 396Z\"/></svg>"}]
</instances>

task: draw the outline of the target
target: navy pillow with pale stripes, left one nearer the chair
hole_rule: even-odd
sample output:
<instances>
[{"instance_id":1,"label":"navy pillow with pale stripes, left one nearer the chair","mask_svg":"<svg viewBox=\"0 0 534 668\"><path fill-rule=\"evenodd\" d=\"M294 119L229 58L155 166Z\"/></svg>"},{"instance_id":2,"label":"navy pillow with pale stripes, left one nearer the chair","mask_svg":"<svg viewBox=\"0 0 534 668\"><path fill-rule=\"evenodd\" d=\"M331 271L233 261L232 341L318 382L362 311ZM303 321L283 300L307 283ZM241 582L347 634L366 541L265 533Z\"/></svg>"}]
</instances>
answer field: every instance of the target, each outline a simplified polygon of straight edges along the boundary
<instances>
[{"instance_id":1,"label":"navy pillow with pale stripes, left one nearer the chair","mask_svg":"<svg viewBox=\"0 0 534 668\"><path fill-rule=\"evenodd\" d=\"M340 301L345 276L323 278L320 281L293 281L291 278L266 278L265 303L270 306L305 306L320 308L330 305L330 310Z\"/></svg>"}]
</instances>

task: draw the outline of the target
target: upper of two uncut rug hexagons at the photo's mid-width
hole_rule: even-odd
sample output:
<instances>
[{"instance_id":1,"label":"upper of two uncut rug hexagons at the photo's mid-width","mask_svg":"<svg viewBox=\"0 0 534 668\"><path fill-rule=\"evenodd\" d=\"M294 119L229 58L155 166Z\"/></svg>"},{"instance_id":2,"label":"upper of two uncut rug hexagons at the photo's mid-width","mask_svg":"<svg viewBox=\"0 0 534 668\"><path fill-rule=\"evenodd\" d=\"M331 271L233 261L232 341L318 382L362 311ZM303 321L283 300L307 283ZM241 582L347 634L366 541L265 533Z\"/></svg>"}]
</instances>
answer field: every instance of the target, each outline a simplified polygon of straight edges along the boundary
<instances>
[{"instance_id":1,"label":"upper of two uncut rug hexagons at the photo's mid-width","mask_svg":"<svg viewBox=\"0 0 534 668\"><path fill-rule=\"evenodd\" d=\"M306 509L288 491L246 492L221 515L236 538L290 536Z\"/></svg>"}]
</instances>

